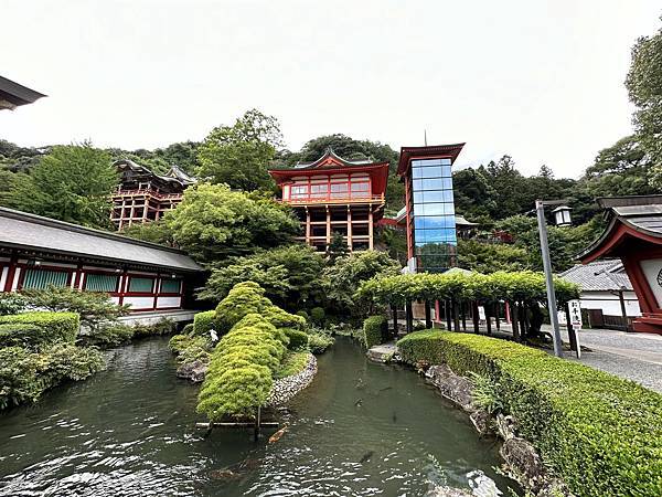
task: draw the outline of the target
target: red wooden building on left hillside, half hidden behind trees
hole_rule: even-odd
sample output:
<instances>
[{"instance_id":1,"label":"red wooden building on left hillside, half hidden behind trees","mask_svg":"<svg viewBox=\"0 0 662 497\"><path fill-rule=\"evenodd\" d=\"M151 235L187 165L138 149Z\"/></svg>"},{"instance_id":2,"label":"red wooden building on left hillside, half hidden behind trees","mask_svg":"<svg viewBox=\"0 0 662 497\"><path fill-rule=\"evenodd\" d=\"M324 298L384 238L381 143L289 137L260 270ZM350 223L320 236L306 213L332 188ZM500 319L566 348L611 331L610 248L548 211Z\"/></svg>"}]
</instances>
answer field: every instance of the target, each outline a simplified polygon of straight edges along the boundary
<instances>
[{"instance_id":1,"label":"red wooden building on left hillside, half hidden behind trees","mask_svg":"<svg viewBox=\"0 0 662 497\"><path fill-rule=\"evenodd\" d=\"M163 176L128 159L118 160L115 166L120 180L113 194L110 220L118 230L134 223L158 221L166 211L177 207L184 190L195 183L194 178L177 166Z\"/></svg>"}]
</instances>

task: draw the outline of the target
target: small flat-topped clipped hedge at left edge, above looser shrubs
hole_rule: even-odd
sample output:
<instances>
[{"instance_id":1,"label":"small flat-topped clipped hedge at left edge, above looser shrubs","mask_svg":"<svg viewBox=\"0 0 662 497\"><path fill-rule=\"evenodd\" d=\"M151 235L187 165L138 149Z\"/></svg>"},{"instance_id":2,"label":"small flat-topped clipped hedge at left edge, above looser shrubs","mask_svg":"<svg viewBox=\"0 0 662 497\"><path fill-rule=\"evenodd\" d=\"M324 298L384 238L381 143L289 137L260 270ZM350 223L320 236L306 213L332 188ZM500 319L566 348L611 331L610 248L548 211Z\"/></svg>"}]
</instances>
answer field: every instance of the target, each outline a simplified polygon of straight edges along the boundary
<instances>
[{"instance_id":1,"label":"small flat-topped clipped hedge at left edge, above looser shrubs","mask_svg":"<svg viewBox=\"0 0 662 497\"><path fill-rule=\"evenodd\" d=\"M81 329L79 317L75 313L23 313L11 316L0 316L0 325L15 325L18 334L21 336L21 341L26 347L39 349L47 343L68 342L73 343L76 340L78 330ZM32 330L34 327L40 329L40 332L30 332L24 325L30 325ZM10 334L11 326L2 328L3 334ZM6 335L7 336L7 335Z\"/></svg>"}]
</instances>

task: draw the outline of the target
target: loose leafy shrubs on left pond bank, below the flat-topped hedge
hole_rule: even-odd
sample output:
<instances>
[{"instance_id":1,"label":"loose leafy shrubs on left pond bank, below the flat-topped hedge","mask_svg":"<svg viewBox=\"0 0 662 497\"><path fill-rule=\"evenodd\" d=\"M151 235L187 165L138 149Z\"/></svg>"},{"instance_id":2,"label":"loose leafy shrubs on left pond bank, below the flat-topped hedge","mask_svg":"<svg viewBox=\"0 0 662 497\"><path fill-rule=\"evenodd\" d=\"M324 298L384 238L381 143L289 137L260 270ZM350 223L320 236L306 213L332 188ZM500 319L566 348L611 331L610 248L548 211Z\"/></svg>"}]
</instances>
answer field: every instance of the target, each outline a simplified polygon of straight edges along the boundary
<instances>
[{"instance_id":1,"label":"loose leafy shrubs on left pond bank, below the flat-topped hedge","mask_svg":"<svg viewBox=\"0 0 662 497\"><path fill-rule=\"evenodd\" d=\"M55 343L40 352L0 348L0 410L34 402L51 387L64 380L84 380L103 368L98 350L71 343Z\"/></svg>"}]
</instances>

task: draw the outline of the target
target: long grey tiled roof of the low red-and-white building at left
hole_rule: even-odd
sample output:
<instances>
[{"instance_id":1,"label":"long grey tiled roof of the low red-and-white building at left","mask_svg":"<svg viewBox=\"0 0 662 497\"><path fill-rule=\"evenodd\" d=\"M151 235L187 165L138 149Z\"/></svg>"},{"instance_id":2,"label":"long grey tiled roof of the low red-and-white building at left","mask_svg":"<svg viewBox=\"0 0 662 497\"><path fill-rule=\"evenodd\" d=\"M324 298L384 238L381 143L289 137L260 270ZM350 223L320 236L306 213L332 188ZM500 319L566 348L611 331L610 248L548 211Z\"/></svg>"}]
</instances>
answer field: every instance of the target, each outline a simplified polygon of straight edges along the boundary
<instances>
[{"instance_id":1,"label":"long grey tiled roof of the low red-and-white building at left","mask_svg":"<svg viewBox=\"0 0 662 497\"><path fill-rule=\"evenodd\" d=\"M66 254L170 271L202 271L175 248L0 208L0 246Z\"/></svg>"}]
</instances>

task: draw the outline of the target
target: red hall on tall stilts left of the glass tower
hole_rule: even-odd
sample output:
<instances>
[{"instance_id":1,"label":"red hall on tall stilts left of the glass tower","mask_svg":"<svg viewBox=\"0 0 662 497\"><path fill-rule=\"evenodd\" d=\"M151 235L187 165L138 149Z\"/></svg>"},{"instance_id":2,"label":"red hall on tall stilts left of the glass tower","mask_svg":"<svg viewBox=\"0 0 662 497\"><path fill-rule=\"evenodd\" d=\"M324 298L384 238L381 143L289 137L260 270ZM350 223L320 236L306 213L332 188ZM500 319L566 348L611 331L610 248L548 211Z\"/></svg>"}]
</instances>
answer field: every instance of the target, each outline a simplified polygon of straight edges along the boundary
<instances>
[{"instance_id":1,"label":"red hall on tall stilts left of the glass tower","mask_svg":"<svg viewBox=\"0 0 662 497\"><path fill-rule=\"evenodd\" d=\"M335 233L351 251L373 248L374 225L384 214L388 162L351 161L330 148L314 162L271 169L282 202L295 208L307 244L325 251Z\"/></svg>"}]
</instances>

